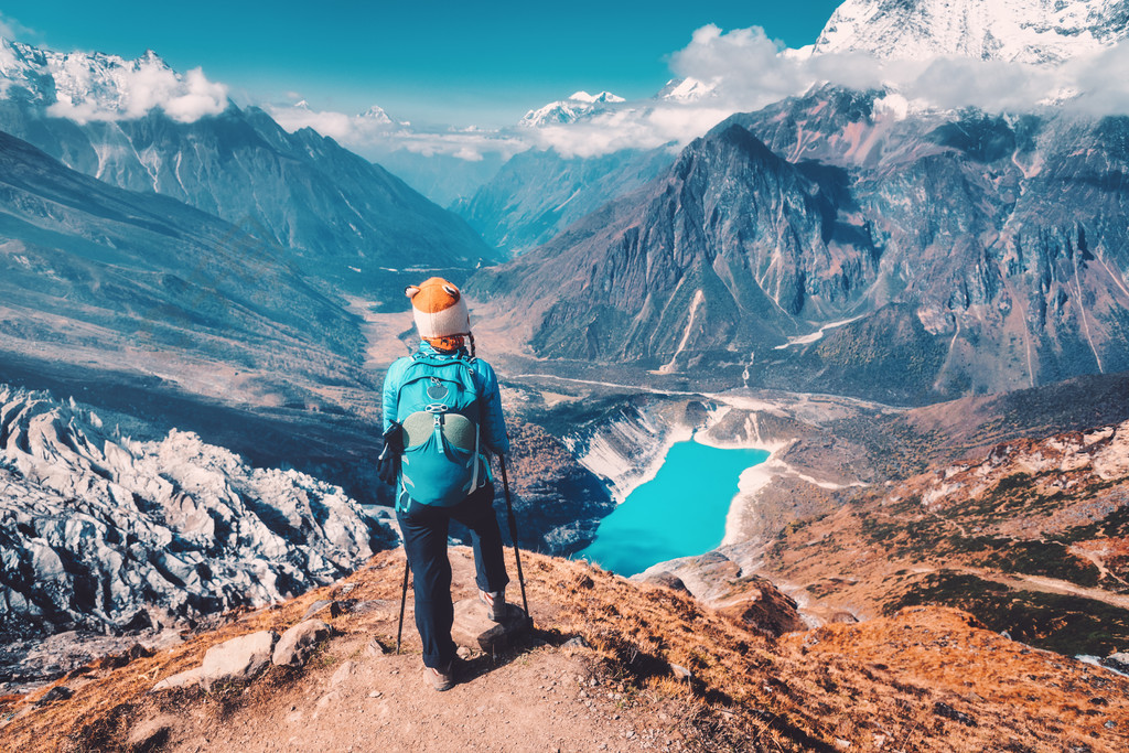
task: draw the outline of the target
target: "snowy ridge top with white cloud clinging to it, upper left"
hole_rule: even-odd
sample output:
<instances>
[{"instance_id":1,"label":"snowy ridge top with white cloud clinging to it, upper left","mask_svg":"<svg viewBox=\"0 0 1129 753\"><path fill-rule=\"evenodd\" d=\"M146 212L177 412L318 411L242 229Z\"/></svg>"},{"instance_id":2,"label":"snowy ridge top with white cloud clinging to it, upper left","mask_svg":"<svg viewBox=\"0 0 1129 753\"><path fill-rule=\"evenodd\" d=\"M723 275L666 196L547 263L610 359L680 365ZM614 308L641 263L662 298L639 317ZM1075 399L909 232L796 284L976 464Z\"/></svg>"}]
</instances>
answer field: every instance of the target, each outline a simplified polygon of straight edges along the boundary
<instances>
[{"instance_id":1,"label":"snowy ridge top with white cloud clinging to it, upper left","mask_svg":"<svg viewBox=\"0 0 1129 753\"><path fill-rule=\"evenodd\" d=\"M199 68L181 76L152 50L126 60L0 38L0 98L38 104L80 123L141 117L155 107L192 122L222 112L227 87L209 81Z\"/></svg>"}]
</instances>

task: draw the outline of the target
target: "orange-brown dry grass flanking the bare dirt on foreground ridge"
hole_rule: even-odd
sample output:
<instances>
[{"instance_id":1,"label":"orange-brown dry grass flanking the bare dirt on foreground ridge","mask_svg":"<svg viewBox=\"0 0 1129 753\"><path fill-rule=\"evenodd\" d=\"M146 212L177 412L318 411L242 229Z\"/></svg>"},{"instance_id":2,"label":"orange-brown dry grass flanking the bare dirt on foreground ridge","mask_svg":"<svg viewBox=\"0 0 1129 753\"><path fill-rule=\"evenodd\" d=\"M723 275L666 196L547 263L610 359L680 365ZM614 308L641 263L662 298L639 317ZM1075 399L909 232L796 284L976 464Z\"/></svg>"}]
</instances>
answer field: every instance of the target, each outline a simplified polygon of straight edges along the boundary
<instances>
[{"instance_id":1,"label":"orange-brown dry grass flanking the bare dirt on foreground ridge","mask_svg":"<svg viewBox=\"0 0 1129 753\"><path fill-rule=\"evenodd\" d=\"M11 707L18 716L0 728L3 744L119 750L126 729L169 704L208 703L222 716L236 694L148 690L199 664L215 643L286 629L317 598L349 589L348 598L399 599L402 562L399 552L382 553L333 587L240 614L125 667L91 672L71 682L68 701L30 708L47 689L21 699ZM917 607L774 640L684 594L584 563L535 554L523 562L539 637L552 647L581 636L603 657L604 680L622 686L624 702L653 709L656 727L692 750L833 751L847 743L851 751L1129 750L1129 681L1008 641L956 610ZM350 613L332 622L342 632L367 629ZM672 664L691 677L676 678ZM290 682L300 682L300 673L269 673L254 694Z\"/></svg>"}]
</instances>

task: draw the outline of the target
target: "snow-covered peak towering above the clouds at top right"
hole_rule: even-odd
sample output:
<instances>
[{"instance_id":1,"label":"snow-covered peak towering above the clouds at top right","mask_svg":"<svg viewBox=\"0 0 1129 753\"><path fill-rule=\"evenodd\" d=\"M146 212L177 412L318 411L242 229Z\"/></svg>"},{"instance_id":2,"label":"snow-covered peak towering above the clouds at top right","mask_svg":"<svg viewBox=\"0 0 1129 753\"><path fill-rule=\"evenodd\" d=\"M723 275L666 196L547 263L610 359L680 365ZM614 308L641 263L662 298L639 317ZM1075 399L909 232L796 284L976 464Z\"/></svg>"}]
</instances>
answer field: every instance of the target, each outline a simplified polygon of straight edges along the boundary
<instances>
[{"instance_id":1,"label":"snow-covered peak towering above the clouds at top right","mask_svg":"<svg viewBox=\"0 0 1129 753\"><path fill-rule=\"evenodd\" d=\"M1126 0L847 0L814 52L1059 63L1127 35Z\"/></svg>"}]
</instances>

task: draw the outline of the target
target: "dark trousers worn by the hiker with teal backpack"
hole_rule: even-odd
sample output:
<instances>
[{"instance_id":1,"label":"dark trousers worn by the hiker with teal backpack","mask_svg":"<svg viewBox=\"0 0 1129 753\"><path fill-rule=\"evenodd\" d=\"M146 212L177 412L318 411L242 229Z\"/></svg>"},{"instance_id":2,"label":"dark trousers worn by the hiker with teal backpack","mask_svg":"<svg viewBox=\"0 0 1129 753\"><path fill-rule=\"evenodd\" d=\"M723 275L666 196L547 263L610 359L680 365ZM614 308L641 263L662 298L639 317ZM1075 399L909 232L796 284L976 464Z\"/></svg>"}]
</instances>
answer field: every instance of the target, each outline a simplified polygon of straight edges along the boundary
<instances>
[{"instance_id":1,"label":"dark trousers worn by the hiker with teal backpack","mask_svg":"<svg viewBox=\"0 0 1129 753\"><path fill-rule=\"evenodd\" d=\"M453 507L412 500L405 511L396 511L396 518L414 576L415 627L423 641L423 664L445 667L455 658L455 641L450 639L455 608L450 598L450 560L447 559L447 528L452 518L471 532L478 587L498 592L509 583L493 509L493 484L488 481Z\"/></svg>"}]
</instances>

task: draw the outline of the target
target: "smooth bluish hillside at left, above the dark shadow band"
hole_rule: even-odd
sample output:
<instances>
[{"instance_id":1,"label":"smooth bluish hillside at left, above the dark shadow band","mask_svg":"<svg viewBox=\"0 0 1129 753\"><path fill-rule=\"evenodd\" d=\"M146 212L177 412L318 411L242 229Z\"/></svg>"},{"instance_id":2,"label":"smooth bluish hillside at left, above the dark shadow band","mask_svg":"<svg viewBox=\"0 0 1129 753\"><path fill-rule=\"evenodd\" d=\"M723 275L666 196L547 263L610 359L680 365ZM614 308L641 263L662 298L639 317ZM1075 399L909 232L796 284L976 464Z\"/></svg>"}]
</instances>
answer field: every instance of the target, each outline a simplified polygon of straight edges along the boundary
<instances>
[{"instance_id":1,"label":"smooth bluish hillside at left, above the dark shadow band","mask_svg":"<svg viewBox=\"0 0 1129 753\"><path fill-rule=\"evenodd\" d=\"M3 133L0 166L6 351L145 362L189 382L262 369L268 392L279 370L357 378L358 322L271 238L115 189Z\"/></svg>"}]
</instances>

